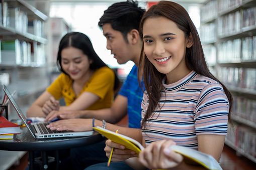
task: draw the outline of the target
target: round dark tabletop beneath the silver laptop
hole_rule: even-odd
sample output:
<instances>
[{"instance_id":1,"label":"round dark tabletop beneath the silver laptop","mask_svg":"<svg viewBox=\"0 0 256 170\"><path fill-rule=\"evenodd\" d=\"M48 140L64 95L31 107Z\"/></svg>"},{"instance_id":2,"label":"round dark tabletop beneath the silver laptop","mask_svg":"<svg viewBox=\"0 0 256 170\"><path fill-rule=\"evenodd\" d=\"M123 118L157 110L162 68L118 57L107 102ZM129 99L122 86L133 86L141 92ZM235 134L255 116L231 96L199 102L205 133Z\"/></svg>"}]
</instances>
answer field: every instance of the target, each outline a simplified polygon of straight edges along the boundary
<instances>
[{"instance_id":1,"label":"round dark tabletop beneath the silver laptop","mask_svg":"<svg viewBox=\"0 0 256 170\"><path fill-rule=\"evenodd\" d=\"M62 137L51 139L36 139L28 128L21 128L20 134L15 134L13 139L0 140L0 150L35 151L35 150L59 150L85 146L104 140L101 134L95 132L85 137Z\"/></svg>"}]
</instances>

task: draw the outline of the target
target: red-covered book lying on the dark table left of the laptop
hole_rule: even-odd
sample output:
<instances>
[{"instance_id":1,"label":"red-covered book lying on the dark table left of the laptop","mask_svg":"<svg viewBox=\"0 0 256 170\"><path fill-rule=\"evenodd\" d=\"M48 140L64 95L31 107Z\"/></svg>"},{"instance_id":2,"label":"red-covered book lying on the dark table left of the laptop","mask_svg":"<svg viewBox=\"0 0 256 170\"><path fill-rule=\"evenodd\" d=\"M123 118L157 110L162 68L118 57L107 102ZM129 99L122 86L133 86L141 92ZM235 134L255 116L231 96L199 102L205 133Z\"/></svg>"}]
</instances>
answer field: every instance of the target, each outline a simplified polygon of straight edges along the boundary
<instances>
[{"instance_id":1,"label":"red-covered book lying on the dark table left of the laptop","mask_svg":"<svg viewBox=\"0 0 256 170\"><path fill-rule=\"evenodd\" d=\"M20 126L10 122L5 117L0 117L0 134L20 133Z\"/></svg>"}]
</instances>

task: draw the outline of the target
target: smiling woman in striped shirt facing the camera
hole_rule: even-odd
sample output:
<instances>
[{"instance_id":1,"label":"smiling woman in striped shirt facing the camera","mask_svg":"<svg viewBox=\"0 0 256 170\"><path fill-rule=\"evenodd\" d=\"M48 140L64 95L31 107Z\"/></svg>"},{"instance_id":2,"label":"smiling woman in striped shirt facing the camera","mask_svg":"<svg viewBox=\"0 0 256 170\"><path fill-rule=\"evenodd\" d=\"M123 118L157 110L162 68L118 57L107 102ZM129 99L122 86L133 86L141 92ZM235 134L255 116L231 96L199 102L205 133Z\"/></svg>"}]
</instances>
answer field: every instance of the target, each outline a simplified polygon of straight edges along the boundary
<instances>
[{"instance_id":1,"label":"smiling woman in striped shirt facing the camera","mask_svg":"<svg viewBox=\"0 0 256 170\"><path fill-rule=\"evenodd\" d=\"M144 53L139 72L146 88L141 131L147 146L140 162L150 169L183 167L182 159L166 150L172 144L197 149L219 161L232 96L209 72L189 14L177 3L160 1L143 15L140 34Z\"/></svg>"}]
</instances>

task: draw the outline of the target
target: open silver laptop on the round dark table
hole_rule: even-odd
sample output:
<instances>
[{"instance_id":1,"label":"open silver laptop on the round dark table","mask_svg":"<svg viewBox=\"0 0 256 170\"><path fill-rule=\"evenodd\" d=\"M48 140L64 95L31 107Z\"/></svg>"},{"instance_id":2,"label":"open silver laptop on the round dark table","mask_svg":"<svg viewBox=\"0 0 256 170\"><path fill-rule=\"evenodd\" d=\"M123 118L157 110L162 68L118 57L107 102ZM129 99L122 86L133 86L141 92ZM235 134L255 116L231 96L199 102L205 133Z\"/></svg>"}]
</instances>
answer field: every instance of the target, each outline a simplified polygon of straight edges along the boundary
<instances>
[{"instance_id":1,"label":"open silver laptop on the round dark table","mask_svg":"<svg viewBox=\"0 0 256 170\"><path fill-rule=\"evenodd\" d=\"M27 123L26 116L22 113L20 107L13 99L11 93L7 89L6 86L4 86L4 92L6 93L8 99L14 106L15 110L17 111L19 117L23 120L27 128L29 129L30 133L34 138L55 138L55 137L77 137L77 136L90 136L93 134L93 131L83 131L83 132L74 132L74 131L57 131L57 130L51 130L46 127L48 123L46 122L36 122L36 123Z\"/></svg>"}]
</instances>

